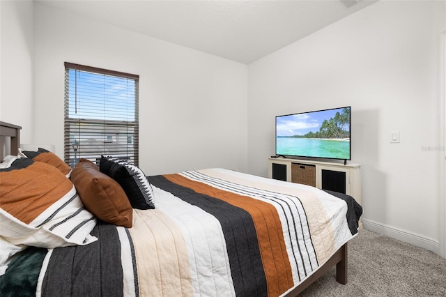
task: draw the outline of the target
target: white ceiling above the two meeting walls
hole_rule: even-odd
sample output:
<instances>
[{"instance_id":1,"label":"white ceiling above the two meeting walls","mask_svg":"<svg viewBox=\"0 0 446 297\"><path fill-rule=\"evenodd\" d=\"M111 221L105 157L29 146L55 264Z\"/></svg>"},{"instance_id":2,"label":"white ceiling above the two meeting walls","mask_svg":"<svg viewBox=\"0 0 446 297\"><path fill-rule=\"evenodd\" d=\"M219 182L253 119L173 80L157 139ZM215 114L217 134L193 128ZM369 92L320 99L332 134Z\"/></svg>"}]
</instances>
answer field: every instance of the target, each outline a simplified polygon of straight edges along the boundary
<instances>
[{"instance_id":1,"label":"white ceiling above the two meeting walls","mask_svg":"<svg viewBox=\"0 0 446 297\"><path fill-rule=\"evenodd\" d=\"M34 1L249 64L377 0Z\"/></svg>"}]
</instances>

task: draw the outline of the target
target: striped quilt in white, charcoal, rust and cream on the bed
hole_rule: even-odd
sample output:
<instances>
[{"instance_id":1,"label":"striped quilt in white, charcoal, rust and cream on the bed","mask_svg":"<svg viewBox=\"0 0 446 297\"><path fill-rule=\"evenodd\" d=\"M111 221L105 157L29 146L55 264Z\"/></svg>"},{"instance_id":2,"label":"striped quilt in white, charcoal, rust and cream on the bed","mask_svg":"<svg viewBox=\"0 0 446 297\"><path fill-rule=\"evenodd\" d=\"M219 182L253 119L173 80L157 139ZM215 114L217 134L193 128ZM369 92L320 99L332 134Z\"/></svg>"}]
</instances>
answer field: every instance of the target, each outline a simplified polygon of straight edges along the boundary
<instances>
[{"instance_id":1,"label":"striped quilt in white, charcoal, rust and cream on the bed","mask_svg":"<svg viewBox=\"0 0 446 297\"><path fill-rule=\"evenodd\" d=\"M353 199L307 185L226 169L148 180L156 208L49 250L38 296L281 296L357 232Z\"/></svg>"}]
</instances>

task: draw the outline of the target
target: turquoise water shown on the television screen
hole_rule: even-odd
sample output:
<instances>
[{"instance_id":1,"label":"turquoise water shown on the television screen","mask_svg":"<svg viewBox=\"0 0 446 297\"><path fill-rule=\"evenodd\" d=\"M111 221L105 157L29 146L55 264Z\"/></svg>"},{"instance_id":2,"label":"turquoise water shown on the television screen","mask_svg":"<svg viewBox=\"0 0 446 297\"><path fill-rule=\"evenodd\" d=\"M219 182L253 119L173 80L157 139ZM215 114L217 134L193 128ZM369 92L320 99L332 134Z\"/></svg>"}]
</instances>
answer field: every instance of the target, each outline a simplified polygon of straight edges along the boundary
<instances>
[{"instance_id":1,"label":"turquoise water shown on the television screen","mask_svg":"<svg viewBox=\"0 0 446 297\"><path fill-rule=\"evenodd\" d=\"M277 137L276 148L276 155L350 159L350 140Z\"/></svg>"}]
</instances>

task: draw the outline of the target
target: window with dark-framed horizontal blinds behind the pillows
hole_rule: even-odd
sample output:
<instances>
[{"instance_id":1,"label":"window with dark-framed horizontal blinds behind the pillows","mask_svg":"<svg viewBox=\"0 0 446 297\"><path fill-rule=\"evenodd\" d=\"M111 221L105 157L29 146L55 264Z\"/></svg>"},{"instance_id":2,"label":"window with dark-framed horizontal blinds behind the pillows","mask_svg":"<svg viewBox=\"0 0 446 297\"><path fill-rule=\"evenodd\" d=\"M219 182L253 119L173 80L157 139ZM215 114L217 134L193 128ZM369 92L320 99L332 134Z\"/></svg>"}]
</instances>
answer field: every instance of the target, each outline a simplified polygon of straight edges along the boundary
<instances>
[{"instance_id":1,"label":"window with dark-framed horizontal blinds behind the pillows","mask_svg":"<svg viewBox=\"0 0 446 297\"><path fill-rule=\"evenodd\" d=\"M139 76L65 63L65 162L113 155L138 165ZM130 141L129 141L130 139Z\"/></svg>"}]
</instances>

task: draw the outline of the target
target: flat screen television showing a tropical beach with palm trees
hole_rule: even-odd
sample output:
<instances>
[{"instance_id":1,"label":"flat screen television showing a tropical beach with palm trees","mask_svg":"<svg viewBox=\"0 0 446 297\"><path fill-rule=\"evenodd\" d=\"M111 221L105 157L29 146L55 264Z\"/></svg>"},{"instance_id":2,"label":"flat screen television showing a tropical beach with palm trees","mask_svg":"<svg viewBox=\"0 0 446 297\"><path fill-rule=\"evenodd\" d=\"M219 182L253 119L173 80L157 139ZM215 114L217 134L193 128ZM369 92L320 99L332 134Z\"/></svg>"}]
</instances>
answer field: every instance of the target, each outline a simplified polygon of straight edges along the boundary
<instances>
[{"instance_id":1,"label":"flat screen television showing a tropical beach with palm trees","mask_svg":"<svg viewBox=\"0 0 446 297\"><path fill-rule=\"evenodd\" d=\"M351 160L351 107L276 116L276 155Z\"/></svg>"}]
</instances>

